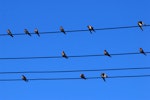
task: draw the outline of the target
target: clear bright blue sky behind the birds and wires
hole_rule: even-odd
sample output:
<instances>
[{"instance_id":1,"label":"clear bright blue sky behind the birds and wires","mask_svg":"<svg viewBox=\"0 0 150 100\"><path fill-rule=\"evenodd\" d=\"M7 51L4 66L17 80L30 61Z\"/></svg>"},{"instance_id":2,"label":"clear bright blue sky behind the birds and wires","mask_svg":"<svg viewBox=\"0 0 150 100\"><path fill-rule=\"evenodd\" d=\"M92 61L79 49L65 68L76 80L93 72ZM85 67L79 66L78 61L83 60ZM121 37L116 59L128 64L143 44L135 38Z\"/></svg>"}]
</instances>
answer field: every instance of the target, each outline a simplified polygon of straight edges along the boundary
<instances>
[{"instance_id":1,"label":"clear bright blue sky behind the birds and wires","mask_svg":"<svg viewBox=\"0 0 150 100\"><path fill-rule=\"evenodd\" d=\"M2 0L0 34L134 26L150 24L149 0ZM150 28L0 37L0 57L59 56L150 51ZM23 33L24 34L24 33ZM0 60L0 72L149 67L150 56L127 55L90 58ZM86 72L88 77L102 72ZM107 71L108 76L149 74L149 70ZM24 74L27 78L79 77L80 73ZM0 79L22 74L0 75ZM0 82L0 100L141 100L150 98L149 78Z\"/></svg>"}]
</instances>

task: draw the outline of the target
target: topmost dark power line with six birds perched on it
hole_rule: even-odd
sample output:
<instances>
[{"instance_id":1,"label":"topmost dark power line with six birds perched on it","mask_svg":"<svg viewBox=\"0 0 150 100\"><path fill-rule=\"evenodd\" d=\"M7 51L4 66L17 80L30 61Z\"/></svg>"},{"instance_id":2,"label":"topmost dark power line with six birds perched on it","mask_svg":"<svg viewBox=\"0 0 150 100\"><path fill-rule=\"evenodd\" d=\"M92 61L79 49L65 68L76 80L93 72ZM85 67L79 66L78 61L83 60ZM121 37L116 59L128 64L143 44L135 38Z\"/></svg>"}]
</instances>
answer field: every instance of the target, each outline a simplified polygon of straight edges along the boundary
<instances>
[{"instance_id":1,"label":"topmost dark power line with six birds perched on it","mask_svg":"<svg viewBox=\"0 0 150 100\"><path fill-rule=\"evenodd\" d=\"M143 27L149 27L150 25L143 25ZM110 28L95 28L94 30L100 31L100 30L116 30L116 29L128 29L128 28L137 28L139 27L138 25L136 26L121 26L121 27L110 27ZM89 31L88 29L84 30L66 30L65 32L87 32ZM40 34L58 34L62 33L61 31L53 31L53 32L39 32ZM35 34L35 33L30 33L30 34ZM25 33L15 33L13 35L26 35ZM8 34L0 34L0 36L8 36Z\"/></svg>"}]
</instances>

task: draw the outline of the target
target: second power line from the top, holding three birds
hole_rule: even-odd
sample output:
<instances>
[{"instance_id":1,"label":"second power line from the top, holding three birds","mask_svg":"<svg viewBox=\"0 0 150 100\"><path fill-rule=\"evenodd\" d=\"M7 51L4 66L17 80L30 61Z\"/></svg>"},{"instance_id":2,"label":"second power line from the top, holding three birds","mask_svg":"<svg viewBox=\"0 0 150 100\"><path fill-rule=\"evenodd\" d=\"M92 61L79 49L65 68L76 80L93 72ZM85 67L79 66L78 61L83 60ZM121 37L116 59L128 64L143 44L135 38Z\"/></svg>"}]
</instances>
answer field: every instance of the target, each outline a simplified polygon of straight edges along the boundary
<instances>
[{"instance_id":1,"label":"second power line from the top, holding three birds","mask_svg":"<svg viewBox=\"0 0 150 100\"><path fill-rule=\"evenodd\" d=\"M145 52L149 54L150 52ZM138 55L141 54L139 52L130 52L130 53L116 53L110 54L111 56L123 56L123 55ZM97 57L97 56L106 56L104 54L91 54L91 55L72 55L67 56L68 58L81 58L81 57ZM52 59L52 58L63 58L62 56L41 56L41 57L7 57L7 58L0 58L0 60L22 60L22 59Z\"/></svg>"}]
</instances>

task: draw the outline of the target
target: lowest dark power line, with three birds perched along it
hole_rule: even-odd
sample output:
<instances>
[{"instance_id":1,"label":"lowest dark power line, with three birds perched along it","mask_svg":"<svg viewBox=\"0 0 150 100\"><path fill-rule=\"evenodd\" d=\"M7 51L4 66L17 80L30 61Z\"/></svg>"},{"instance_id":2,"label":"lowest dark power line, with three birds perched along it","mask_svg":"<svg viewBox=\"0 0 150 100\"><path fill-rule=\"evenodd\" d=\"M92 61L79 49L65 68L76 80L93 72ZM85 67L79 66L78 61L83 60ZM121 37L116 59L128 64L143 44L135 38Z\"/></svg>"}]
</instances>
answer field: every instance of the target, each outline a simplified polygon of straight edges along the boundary
<instances>
[{"instance_id":1,"label":"lowest dark power line, with three birds perched along it","mask_svg":"<svg viewBox=\"0 0 150 100\"><path fill-rule=\"evenodd\" d=\"M150 77L150 74L145 75L130 75L130 76L108 76L107 78L142 78L142 77ZM101 79L101 77L87 77L89 79ZM32 78L28 79L29 81L54 81L54 80L81 80L81 78ZM83 79L82 79L83 80ZM0 79L2 82L6 81L23 81L22 79Z\"/></svg>"}]
</instances>

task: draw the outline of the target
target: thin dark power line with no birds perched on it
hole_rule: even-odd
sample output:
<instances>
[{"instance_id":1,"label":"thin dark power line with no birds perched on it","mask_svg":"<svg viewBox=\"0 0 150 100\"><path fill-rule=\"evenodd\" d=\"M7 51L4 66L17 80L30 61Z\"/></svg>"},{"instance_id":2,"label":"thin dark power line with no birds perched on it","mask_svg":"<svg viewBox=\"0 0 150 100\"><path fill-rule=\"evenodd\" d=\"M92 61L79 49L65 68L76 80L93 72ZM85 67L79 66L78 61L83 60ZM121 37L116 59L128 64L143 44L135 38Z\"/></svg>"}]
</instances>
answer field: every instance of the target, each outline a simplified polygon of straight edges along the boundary
<instances>
[{"instance_id":1,"label":"thin dark power line with no birds perched on it","mask_svg":"<svg viewBox=\"0 0 150 100\"><path fill-rule=\"evenodd\" d=\"M107 68L91 70L64 70L64 71L19 71L19 72L0 72L0 74L21 74L21 73L74 73L74 72L97 72L97 71L117 71L117 70L148 70L150 67L133 67L133 68Z\"/></svg>"}]
</instances>

